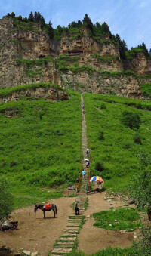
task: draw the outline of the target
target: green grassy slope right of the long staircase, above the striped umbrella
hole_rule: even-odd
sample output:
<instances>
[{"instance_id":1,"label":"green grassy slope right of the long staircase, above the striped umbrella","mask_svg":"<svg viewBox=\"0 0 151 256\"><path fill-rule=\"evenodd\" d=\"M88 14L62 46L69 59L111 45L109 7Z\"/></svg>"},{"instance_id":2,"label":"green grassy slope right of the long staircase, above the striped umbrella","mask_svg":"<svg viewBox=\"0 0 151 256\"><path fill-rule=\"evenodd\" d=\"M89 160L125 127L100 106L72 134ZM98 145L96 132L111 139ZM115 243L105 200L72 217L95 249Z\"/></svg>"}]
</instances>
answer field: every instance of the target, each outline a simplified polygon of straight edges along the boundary
<instances>
[{"instance_id":1,"label":"green grassy slope right of the long staircase, above the striped umbrella","mask_svg":"<svg viewBox=\"0 0 151 256\"><path fill-rule=\"evenodd\" d=\"M151 102L95 94L84 94L84 100L93 159L91 176L103 177L105 189L122 193L128 189L131 177L139 171L137 155L142 150L150 152L151 113L146 109L151 109ZM139 130L122 124L124 111L140 115ZM100 140L100 131L103 140ZM134 142L136 134L141 137L142 145Z\"/></svg>"}]
</instances>

